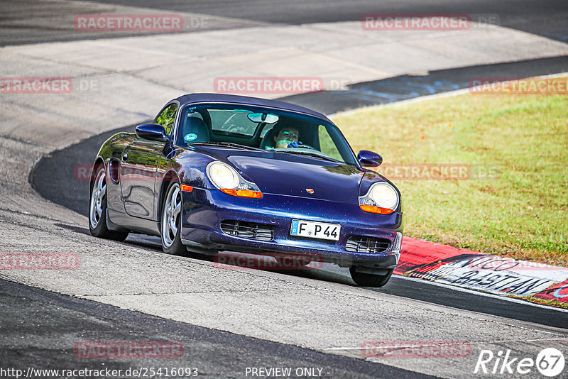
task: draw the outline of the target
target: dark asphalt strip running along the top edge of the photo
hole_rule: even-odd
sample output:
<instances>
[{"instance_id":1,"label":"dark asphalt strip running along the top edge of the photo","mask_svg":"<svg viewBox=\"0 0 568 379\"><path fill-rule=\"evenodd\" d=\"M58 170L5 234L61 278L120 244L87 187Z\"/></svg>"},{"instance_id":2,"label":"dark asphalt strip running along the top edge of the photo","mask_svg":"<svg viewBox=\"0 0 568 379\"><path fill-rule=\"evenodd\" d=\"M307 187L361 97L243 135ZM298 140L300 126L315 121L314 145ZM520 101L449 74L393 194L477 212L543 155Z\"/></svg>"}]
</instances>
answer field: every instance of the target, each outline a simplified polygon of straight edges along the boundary
<instances>
[{"instance_id":1,"label":"dark asphalt strip running along the top edge of the photo","mask_svg":"<svg viewBox=\"0 0 568 379\"><path fill-rule=\"evenodd\" d=\"M199 1L199 0L103 0L98 4L112 6L136 6L165 12L187 12L197 15L231 18L231 22L219 23L212 20L207 28L233 28L251 26L251 23L281 23L300 25L302 23L324 23L360 21L366 13L469 13L479 15L482 20L499 23L501 26L526 31L556 40L568 40L566 2L548 0L545 2L517 0L244 0L244 1ZM4 0L0 4L1 16L0 45L18 45L53 40L76 40L82 38L109 38L113 33L87 34L65 28L60 22L65 15L107 13L110 7L95 6L85 1L75 4L40 4L30 0ZM127 13L127 12L124 12ZM496 18L490 18L497 16ZM52 23L40 22L53 18ZM121 36L128 35L121 33ZM141 35L136 33L136 35Z\"/></svg>"}]
</instances>

